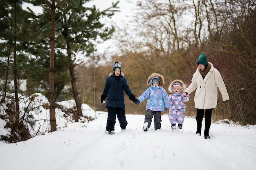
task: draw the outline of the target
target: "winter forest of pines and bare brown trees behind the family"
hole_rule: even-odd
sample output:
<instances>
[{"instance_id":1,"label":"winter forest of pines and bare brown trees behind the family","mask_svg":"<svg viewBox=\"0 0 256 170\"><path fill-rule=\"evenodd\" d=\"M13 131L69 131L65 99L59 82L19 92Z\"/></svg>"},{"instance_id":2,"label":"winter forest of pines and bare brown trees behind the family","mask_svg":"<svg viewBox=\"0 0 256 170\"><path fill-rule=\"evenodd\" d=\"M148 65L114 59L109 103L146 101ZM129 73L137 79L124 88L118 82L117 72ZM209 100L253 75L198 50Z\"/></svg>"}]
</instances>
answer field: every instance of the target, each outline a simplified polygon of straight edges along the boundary
<instances>
[{"instance_id":1,"label":"winter forest of pines and bare brown trees behind the family","mask_svg":"<svg viewBox=\"0 0 256 170\"><path fill-rule=\"evenodd\" d=\"M219 95L213 120L256 124L254 0L137 0L132 20L123 27L108 26L101 20L118 15L118 2L100 11L87 7L89 1L0 1L0 100L1 104L8 102L7 114L0 118L9 120L7 126L13 134L9 141L29 138L20 137L26 136L27 128L20 113L29 116L29 110L19 108L18 94L45 95L51 131L55 131L56 101L75 100L74 121L83 116L81 103L106 111L99 99L115 61L121 64L132 93L139 97L153 72L164 76L165 89L173 79L189 85L200 53L220 71L230 97L224 104ZM40 6L43 12L25 11L21 7L25 2ZM118 51L97 53L97 44L110 38L115 39L112 46ZM27 80L26 91L19 89L21 79ZM65 86L70 88L64 91ZM15 95L10 97L10 93ZM186 102L187 116L195 116L193 95ZM146 102L137 106L125 99L127 114L145 113Z\"/></svg>"}]
</instances>

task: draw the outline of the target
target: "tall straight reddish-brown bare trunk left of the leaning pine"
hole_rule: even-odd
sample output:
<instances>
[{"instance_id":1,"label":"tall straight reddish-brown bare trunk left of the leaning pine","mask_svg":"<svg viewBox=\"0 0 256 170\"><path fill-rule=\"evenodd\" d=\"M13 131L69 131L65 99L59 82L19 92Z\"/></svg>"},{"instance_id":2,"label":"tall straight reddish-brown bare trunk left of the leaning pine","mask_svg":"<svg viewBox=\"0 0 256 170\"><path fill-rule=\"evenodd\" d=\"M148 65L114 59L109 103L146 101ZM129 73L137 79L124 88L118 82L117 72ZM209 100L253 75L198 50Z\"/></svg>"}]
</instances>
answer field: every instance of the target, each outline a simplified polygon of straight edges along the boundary
<instances>
[{"instance_id":1,"label":"tall straight reddish-brown bare trunk left of the leaning pine","mask_svg":"<svg viewBox=\"0 0 256 170\"><path fill-rule=\"evenodd\" d=\"M49 68L49 103L50 103L50 125L51 132L56 131L55 99L54 99L54 47L55 47L55 0L52 0L52 25L51 25L51 52Z\"/></svg>"}]
</instances>

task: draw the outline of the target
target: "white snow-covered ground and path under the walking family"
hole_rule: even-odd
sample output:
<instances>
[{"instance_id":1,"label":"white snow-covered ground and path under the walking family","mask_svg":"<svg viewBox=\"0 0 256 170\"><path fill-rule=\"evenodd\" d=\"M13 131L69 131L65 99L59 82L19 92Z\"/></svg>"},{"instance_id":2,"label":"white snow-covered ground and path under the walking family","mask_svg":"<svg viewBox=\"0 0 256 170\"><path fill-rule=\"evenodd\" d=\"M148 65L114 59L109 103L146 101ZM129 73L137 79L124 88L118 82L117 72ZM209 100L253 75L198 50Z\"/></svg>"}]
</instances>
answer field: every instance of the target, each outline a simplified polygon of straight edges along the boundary
<instances>
[{"instance_id":1,"label":"white snow-covered ground and path under the walking family","mask_svg":"<svg viewBox=\"0 0 256 170\"><path fill-rule=\"evenodd\" d=\"M35 101L47 102L40 94L36 96ZM72 103L71 100L59 104L70 107ZM41 118L48 117L48 111L39 110L38 124L46 130L49 125L41 124ZM96 119L72 123L56 109L57 123L63 125L58 126L58 131L15 144L0 141L0 170L253 170L256 167L256 125L214 123L211 139L204 139L195 134L196 120L192 117L185 118L182 130L171 130L168 115L162 115L161 130L155 131L151 126L144 132L144 115L126 115L126 131L121 132L117 121L115 135L108 135L106 112L94 112L84 104L83 114ZM8 133L8 129L0 119L0 135L3 132Z\"/></svg>"}]
</instances>

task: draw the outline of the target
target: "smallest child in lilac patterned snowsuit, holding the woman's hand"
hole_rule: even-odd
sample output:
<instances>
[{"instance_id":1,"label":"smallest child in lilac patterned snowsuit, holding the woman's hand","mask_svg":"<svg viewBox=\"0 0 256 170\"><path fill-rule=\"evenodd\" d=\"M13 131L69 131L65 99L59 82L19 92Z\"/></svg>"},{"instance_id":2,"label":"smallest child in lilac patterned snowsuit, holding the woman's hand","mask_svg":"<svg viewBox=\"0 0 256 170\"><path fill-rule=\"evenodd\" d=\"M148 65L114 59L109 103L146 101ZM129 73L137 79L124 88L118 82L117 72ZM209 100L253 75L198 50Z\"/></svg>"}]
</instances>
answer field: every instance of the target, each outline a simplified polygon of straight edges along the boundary
<instances>
[{"instance_id":1,"label":"smallest child in lilac patterned snowsuit, holding the woman's hand","mask_svg":"<svg viewBox=\"0 0 256 170\"><path fill-rule=\"evenodd\" d=\"M186 85L179 79L175 79L168 87L168 91L172 93L168 96L168 100L171 104L169 109L169 120L172 129L176 128L176 123L178 124L178 128L182 129L186 111L184 102L189 101L189 95L185 96L182 93L182 90L184 91L185 89Z\"/></svg>"}]
</instances>

